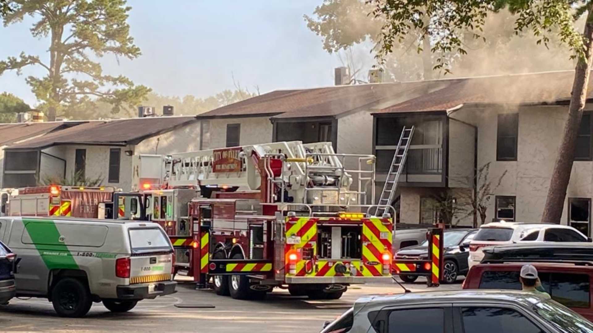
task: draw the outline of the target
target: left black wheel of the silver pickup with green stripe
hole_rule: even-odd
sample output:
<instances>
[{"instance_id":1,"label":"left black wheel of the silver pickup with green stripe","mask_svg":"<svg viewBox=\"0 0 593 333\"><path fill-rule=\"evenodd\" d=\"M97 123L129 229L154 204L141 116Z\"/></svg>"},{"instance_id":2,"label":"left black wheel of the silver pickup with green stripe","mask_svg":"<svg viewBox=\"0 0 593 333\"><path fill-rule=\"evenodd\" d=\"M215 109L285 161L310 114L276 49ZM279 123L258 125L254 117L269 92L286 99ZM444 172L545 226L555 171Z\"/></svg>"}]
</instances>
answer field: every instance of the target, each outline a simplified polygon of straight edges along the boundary
<instances>
[{"instance_id":1,"label":"left black wheel of the silver pickup with green stripe","mask_svg":"<svg viewBox=\"0 0 593 333\"><path fill-rule=\"evenodd\" d=\"M58 316L80 318L91 309L93 300L85 284L76 278L66 277L53 286L52 304Z\"/></svg>"}]
</instances>

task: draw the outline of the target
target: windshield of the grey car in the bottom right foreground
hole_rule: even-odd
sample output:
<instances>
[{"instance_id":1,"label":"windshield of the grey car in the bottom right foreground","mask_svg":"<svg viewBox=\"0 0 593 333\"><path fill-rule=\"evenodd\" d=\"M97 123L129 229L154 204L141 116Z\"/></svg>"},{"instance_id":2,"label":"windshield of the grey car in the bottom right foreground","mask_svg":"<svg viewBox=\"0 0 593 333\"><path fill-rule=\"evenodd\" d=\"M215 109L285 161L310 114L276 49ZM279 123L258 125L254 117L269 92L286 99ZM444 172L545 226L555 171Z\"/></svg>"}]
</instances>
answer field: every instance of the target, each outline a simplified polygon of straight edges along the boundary
<instances>
[{"instance_id":1,"label":"windshield of the grey car in the bottom right foreground","mask_svg":"<svg viewBox=\"0 0 593 333\"><path fill-rule=\"evenodd\" d=\"M573 312L553 300L546 300L534 306L535 312L546 319L559 332L593 332L593 324L578 313Z\"/></svg>"}]
</instances>

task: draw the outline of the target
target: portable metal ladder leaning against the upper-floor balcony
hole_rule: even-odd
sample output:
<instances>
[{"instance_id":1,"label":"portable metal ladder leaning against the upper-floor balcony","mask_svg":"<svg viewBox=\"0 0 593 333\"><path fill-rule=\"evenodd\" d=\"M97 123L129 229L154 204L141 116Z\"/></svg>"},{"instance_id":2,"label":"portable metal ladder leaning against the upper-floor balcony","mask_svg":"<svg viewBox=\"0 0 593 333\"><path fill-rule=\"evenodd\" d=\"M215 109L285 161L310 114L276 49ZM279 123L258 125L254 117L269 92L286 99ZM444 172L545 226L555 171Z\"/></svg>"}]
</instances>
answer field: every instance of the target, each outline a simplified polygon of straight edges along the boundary
<instances>
[{"instance_id":1,"label":"portable metal ladder leaning against the upper-floor balcony","mask_svg":"<svg viewBox=\"0 0 593 333\"><path fill-rule=\"evenodd\" d=\"M397 189L397 181L400 178L401 171L403 171L403 166L406 164L407 153L410 148L414 129L415 126L404 126L404 129L401 131L400 140L397 143L396 152L393 155L393 161L391 161L387 178L385 178L381 197L379 197L379 206L375 210L375 216L381 216L381 214L385 212L385 206L383 205L390 205L394 199Z\"/></svg>"}]
</instances>

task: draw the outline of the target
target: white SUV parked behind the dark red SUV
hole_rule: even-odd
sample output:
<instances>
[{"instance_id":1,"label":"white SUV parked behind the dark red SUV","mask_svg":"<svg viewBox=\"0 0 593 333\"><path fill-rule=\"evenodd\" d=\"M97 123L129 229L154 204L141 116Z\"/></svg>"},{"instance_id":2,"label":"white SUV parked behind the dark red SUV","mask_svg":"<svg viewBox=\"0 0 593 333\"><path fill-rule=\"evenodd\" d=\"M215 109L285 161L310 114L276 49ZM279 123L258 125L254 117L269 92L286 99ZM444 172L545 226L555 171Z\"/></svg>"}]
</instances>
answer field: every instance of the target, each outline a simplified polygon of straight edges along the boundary
<instances>
[{"instance_id":1,"label":"white SUV parked behind the dark red SUV","mask_svg":"<svg viewBox=\"0 0 593 333\"><path fill-rule=\"evenodd\" d=\"M519 242L590 242L591 239L571 226L548 223L492 222L480 227L470 242L467 264L479 264L484 246Z\"/></svg>"}]
</instances>

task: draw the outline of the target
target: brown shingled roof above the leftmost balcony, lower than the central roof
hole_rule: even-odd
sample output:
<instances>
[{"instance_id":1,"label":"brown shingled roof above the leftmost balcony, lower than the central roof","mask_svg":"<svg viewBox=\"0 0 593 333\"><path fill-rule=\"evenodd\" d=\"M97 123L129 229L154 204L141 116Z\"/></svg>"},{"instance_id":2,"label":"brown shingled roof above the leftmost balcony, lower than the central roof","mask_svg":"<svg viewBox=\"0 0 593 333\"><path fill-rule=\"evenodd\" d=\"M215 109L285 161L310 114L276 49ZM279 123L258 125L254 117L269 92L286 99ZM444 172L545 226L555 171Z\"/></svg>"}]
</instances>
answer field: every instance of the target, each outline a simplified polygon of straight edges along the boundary
<instances>
[{"instance_id":1,"label":"brown shingled roof above the leftmost balcony, lower than the central roof","mask_svg":"<svg viewBox=\"0 0 593 333\"><path fill-rule=\"evenodd\" d=\"M196 117L150 117L120 120L94 120L78 126L27 140L11 149L39 149L53 145L129 145L147 137L184 126Z\"/></svg>"}]
</instances>

